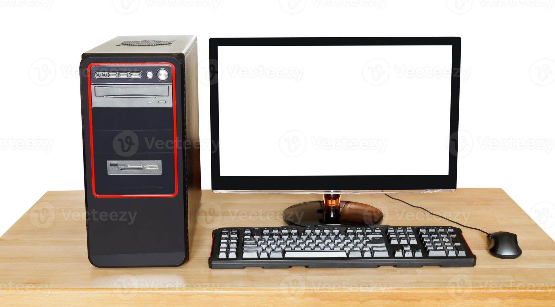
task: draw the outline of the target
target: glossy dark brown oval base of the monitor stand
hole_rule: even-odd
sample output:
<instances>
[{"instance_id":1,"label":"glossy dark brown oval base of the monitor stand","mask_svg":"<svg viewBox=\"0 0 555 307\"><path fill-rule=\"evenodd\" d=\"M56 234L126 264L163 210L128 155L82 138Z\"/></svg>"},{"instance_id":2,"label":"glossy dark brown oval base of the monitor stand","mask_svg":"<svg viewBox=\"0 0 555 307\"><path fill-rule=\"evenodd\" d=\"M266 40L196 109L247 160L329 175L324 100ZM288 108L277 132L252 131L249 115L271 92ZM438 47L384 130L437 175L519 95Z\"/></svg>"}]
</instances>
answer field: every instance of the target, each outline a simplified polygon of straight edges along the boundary
<instances>
[{"instance_id":1,"label":"glossy dark brown oval base of the monitor stand","mask_svg":"<svg viewBox=\"0 0 555 307\"><path fill-rule=\"evenodd\" d=\"M326 199L326 195L324 195ZM327 200L326 200L327 202ZM338 210L339 209L339 210ZM283 212L284 221L292 226L374 226L381 223L384 213L365 203L337 201L326 206L325 201L312 201L295 204Z\"/></svg>"}]
</instances>

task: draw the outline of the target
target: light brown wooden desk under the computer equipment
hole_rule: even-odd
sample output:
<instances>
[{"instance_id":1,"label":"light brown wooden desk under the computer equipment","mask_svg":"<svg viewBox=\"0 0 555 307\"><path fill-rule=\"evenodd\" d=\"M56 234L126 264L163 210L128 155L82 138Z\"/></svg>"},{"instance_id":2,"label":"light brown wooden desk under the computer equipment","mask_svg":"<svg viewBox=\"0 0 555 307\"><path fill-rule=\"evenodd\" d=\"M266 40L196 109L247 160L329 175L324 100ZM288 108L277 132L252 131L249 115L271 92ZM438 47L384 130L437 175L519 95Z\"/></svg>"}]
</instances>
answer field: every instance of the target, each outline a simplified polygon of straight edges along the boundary
<instances>
[{"instance_id":1,"label":"light brown wooden desk under the computer equipment","mask_svg":"<svg viewBox=\"0 0 555 307\"><path fill-rule=\"evenodd\" d=\"M492 257L485 235L463 228L473 268L208 268L211 230L282 226L282 209L316 195L226 195L203 191L190 260L178 268L95 268L87 259L83 191L47 192L0 239L3 305L554 305L555 243L499 188L400 195L486 231L518 234L523 254ZM385 213L383 224L449 222L384 195L350 195Z\"/></svg>"}]
</instances>

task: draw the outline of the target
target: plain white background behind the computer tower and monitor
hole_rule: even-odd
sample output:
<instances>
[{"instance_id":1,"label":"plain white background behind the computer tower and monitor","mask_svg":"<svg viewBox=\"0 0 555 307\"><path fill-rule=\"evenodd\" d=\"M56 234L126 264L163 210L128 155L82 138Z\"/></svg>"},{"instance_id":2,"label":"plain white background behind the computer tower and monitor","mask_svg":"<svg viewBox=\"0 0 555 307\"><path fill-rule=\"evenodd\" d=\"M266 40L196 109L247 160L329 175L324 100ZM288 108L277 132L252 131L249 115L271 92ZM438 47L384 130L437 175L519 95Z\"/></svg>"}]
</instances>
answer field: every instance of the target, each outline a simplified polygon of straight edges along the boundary
<instances>
[{"instance_id":1,"label":"plain white background behind the computer tower and monitor","mask_svg":"<svg viewBox=\"0 0 555 307\"><path fill-rule=\"evenodd\" d=\"M83 52L108 39L198 35L200 137L207 143L203 78L210 37L444 35L462 37L465 69L458 186L503 188L553 238L552 4L310 0L291 8L278 0L0 0L0 233L44 192L83 189L78 66ZM49 150L40 146L44 140L53 144ZM203 188L210 188L207 150L201 160Z\"/></svg>"}]
</instances>

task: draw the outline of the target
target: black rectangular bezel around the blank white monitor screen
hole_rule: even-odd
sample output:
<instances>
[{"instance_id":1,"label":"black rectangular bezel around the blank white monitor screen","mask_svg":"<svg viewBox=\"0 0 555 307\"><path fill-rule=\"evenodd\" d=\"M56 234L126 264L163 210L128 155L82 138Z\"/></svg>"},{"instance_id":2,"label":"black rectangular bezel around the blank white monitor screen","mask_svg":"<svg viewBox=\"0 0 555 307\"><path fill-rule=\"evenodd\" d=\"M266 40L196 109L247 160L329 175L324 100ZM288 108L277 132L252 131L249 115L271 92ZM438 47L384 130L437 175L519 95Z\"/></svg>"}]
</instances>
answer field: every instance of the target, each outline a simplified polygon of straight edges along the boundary
<instances>
[{"instance_id":1,"label":"black rectangular bezel around the blank white monitor screen","mask_svg":"<svg viewBox=\"0 0 555 307\"><path fill-rule=\"evenodd\" d=\"M364 176L220 176L218 94L219 46L451 45L451 120L448 175ZM311 37L210 38L211 175L214 191L397 191L454 190L457 187L458 112L461 71L460 37Z\"/></svg>"}]
</instances>

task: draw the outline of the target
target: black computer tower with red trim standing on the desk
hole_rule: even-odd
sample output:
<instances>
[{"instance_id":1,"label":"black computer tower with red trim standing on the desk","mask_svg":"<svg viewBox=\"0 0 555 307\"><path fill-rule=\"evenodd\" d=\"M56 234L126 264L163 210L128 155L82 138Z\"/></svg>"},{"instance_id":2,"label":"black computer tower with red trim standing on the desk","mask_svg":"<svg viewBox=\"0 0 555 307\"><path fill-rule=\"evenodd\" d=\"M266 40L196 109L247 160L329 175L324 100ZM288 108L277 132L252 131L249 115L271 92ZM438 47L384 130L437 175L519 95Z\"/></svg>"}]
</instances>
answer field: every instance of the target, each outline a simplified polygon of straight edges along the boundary
<instances>
[{"instance_id":1,"label":"black computer tower with red trim standing on the desk","mask_svg":"<svg viewBox=\"0 0 555 307\"><path fill-rule=\"evenodd\" d=\"M171 267L200 203L194 35L120 36L83 53L87 244L97 267Z\"/></svg>"}]
</instances>

